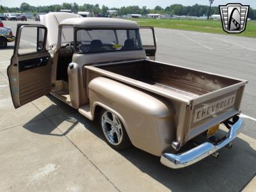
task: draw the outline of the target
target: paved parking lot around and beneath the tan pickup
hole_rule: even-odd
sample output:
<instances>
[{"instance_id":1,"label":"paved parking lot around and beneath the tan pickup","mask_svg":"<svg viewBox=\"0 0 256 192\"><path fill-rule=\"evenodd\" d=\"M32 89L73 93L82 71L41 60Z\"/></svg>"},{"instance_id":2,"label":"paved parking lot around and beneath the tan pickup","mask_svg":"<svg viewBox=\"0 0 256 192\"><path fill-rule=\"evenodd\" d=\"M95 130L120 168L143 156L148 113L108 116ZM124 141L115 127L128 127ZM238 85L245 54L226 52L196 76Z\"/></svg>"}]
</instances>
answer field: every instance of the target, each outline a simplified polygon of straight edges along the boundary
<instances>
[{"instance_id":1,"label":"paved parking lot around and beneath the tan pickup","mask_svg":"<svg viewBox=\"0 0 256 192\"><path fill-rule=\"evenodd\" d=\"M14 33L16 24L4 21ZM14 109L6 76L11 43L0 50L0 191L241 191L251 180L244 191L253 191L256 39L172 29L156 29L156 36L156 60L249 80L241 106L246 125L233 148L172 170L137 148L113 150L97 122L51 95Z\"/></svg>"}]
</instances>

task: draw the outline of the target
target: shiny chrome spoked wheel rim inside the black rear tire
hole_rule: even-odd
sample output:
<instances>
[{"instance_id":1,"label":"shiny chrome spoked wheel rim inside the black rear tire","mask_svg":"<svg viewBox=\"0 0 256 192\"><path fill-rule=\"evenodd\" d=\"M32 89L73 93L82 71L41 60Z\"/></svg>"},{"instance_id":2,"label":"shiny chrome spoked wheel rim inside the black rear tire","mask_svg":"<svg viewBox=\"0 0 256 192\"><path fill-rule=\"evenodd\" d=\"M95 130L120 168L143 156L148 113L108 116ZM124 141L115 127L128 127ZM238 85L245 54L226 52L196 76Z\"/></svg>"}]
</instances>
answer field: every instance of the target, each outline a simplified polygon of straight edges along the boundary
<instances>
[{"instance_id":1,"label":"shiny chrome spoked wheel rim inside the black rear tire","mask_svg":"<svg viewBox=\"0 0 256 192\"><path fill-rule=\"evenodd\" d=\"M101 125L106 139L112 145L119 145L123 140L123 129L115 113L104 111L101 116Z\"/></svg>"}]
</instances>

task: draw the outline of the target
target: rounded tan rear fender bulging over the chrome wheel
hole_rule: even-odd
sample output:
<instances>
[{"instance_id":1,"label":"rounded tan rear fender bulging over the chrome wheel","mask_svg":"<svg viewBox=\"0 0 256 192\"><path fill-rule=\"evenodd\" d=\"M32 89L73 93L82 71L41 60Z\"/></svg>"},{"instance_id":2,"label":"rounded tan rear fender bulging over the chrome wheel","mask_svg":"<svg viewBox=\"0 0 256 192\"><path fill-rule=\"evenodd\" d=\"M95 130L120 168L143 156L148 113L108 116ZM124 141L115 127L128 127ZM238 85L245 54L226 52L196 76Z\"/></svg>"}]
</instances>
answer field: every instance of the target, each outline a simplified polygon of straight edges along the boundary
<instances>
[{"instance_id":1,"label":"rounded tan rear fender bulging over the chrome wheel","mask_svg":"<svg viewBox=\"0 0 256 192\"><path fill-rule=\"evenodd\" d=\"M176 129L168 100L106 77L93 79L88 87L92 116L96 106L113 111L135 147L156 156L170 150Z\"/></svg>"}]
</instances>

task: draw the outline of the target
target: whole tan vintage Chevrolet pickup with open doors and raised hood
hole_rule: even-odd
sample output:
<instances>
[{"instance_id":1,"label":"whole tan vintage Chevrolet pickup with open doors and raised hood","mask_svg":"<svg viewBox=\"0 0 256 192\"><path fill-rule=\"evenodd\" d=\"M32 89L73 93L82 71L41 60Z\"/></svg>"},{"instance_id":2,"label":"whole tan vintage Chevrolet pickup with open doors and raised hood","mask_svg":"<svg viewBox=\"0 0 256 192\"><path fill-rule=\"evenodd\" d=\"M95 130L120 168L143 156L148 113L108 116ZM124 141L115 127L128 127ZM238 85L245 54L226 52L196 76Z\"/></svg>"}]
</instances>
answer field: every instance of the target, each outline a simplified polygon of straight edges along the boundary
<instances>
[{"instance_id":1,"label":"whole tan vintage Chevrolet pickup with open doors and raised hood","mask_svg":"<svg viewBox=\"0 0 256 192\"><path fill-rule=\"evenodd\" d=\"M218 156L241 131L247 81L154 61L154 28L74 13L41 23L17 26L8 67L15 108L51 93L98 119L111 147L134 145L170 168ZM30 47L20 44L27 31Z\"/></svg>"}]
</instances>

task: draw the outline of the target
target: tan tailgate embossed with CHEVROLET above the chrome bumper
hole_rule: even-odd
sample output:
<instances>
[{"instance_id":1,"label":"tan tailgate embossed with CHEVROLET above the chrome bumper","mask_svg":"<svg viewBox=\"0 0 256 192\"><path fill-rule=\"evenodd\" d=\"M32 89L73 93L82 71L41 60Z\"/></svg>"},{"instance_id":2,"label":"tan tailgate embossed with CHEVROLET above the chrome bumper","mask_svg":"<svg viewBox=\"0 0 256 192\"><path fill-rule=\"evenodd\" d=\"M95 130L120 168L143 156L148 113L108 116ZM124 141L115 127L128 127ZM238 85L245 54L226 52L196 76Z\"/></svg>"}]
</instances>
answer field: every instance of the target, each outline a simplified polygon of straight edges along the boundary
<instances>
[{"instance_id":1,"label":"tan tailgate embossed with CHEVROLET above the chrome bumper","mask_svg":"<svg viewBox=\"0 0 256 192\"><path fill-rule=\"evenodd\" d=\"M242 81L191 100L185 140L191 140L210 127L237 115L246 83Z\"/></svg>"}]
</instances>

